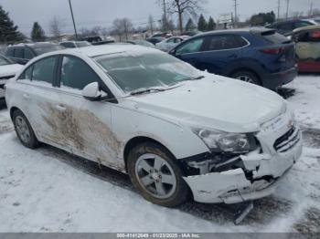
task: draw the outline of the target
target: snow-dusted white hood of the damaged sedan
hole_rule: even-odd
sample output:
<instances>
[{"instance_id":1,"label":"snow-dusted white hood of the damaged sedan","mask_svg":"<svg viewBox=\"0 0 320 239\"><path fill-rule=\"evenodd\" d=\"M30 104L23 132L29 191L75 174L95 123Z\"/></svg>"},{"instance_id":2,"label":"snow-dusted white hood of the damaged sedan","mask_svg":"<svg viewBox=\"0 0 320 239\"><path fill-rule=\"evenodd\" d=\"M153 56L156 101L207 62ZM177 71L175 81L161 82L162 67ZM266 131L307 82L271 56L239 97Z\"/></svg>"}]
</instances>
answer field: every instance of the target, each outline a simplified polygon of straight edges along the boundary
<instances>
[{"instance_id":1,"label":"snow-dusted white hood of the damaged sedan","mask_svg":"<svg viewBox=\"0 0 320 239\"><path fill-rule=\"evenodd\" d=\"M228 132L259 131L261 124L286 110L269 89L206 73L164 92L132 97L135 109L181 125Z\"/></svg>"}]
</instances>

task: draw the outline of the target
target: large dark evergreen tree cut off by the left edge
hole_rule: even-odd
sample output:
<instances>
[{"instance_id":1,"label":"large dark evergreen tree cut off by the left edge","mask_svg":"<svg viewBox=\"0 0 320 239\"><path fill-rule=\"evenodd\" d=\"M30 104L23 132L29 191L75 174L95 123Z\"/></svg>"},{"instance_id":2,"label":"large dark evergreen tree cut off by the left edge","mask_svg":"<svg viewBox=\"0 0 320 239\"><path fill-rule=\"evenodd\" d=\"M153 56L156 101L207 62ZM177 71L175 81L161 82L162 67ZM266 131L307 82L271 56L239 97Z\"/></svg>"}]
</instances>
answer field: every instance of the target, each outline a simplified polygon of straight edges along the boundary
<instances>
[{"instance_id":1,"label":"large dark evergreen tree cut off by the left edge","mask_svg":"<svg viewBox=\"0 0 320 239\"><path fill-rule=\"evenodd\" d=\"M0 5L0 42L15 43L22 41L24 36L17 30L14 22L10 19L9 13Z\"/></svg>"}]
</instances>

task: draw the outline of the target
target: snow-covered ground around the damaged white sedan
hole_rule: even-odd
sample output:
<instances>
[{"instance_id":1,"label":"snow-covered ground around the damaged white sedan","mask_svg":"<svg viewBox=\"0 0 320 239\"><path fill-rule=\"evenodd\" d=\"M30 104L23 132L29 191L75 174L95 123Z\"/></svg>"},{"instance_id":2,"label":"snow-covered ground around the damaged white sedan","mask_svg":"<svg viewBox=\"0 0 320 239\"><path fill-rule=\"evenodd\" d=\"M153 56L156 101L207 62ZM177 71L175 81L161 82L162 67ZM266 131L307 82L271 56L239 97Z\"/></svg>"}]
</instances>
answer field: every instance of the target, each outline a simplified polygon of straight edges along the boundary
<instances>
[{"instance_id":1,"label":"snow-covered ground around the damaged white sedan","mask_svg":"<svg viewBox=\"0 0 320 239\"><path fill-rule=\"evenodd\" d=\"M320 76L303 76L288 99L304 127L304 155L239 226L235 206L146 202L128 178L44 146L24 148L0 110L1 232L320 232Z\"/></svg>"}]
</instances>

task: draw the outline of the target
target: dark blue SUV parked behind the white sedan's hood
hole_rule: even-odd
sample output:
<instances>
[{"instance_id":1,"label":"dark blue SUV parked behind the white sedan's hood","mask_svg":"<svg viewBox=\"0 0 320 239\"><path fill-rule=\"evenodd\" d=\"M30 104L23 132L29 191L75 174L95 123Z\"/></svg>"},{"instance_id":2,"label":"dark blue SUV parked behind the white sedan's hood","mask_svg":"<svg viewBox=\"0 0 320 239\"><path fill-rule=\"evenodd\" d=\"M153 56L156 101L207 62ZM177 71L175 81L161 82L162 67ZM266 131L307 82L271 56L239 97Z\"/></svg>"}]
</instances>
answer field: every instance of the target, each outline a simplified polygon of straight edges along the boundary
<instances>
[{"instance_id":1,"label":"dark blue SUV parked behind the white sedan's hood","mask_svg":"<svg viewBox=\"0 0 320 239\"><path fill-rule=\"evenodd\" d=\"M214 31L169 52L200 70L275 89L297 75L294 44L266 28Z\"/></svg>"}]
</instances>

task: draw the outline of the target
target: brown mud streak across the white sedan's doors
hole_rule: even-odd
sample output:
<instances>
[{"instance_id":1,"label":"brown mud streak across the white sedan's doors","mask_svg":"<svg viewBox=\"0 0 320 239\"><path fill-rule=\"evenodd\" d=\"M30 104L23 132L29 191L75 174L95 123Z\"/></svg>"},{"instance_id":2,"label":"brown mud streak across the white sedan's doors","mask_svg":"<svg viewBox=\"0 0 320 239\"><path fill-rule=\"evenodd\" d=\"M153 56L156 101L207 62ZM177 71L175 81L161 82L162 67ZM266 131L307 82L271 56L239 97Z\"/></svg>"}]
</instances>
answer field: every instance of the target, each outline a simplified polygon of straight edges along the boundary
<instances>
[{"instance_id":1,"label":"brown mud streak across the white sedan's doors","mask_svg":"<svg viewBox=\"0 0 320 239\"><path fill-rule=\"evenodd\" d=\"M67 108L59 111L48 103L41 104L40 108L48 112L42 118L50 126L51 132L54 132L48 134L54 137L47 138L46 134L42 134L42 138L73 149L72 151L80 151L93 157L100 164L125 171L121 153L123 142L118 140L112 130L89 110ZM97 143L100 145L99 151L95 147Z\"/></svg>"}]
</instances>

